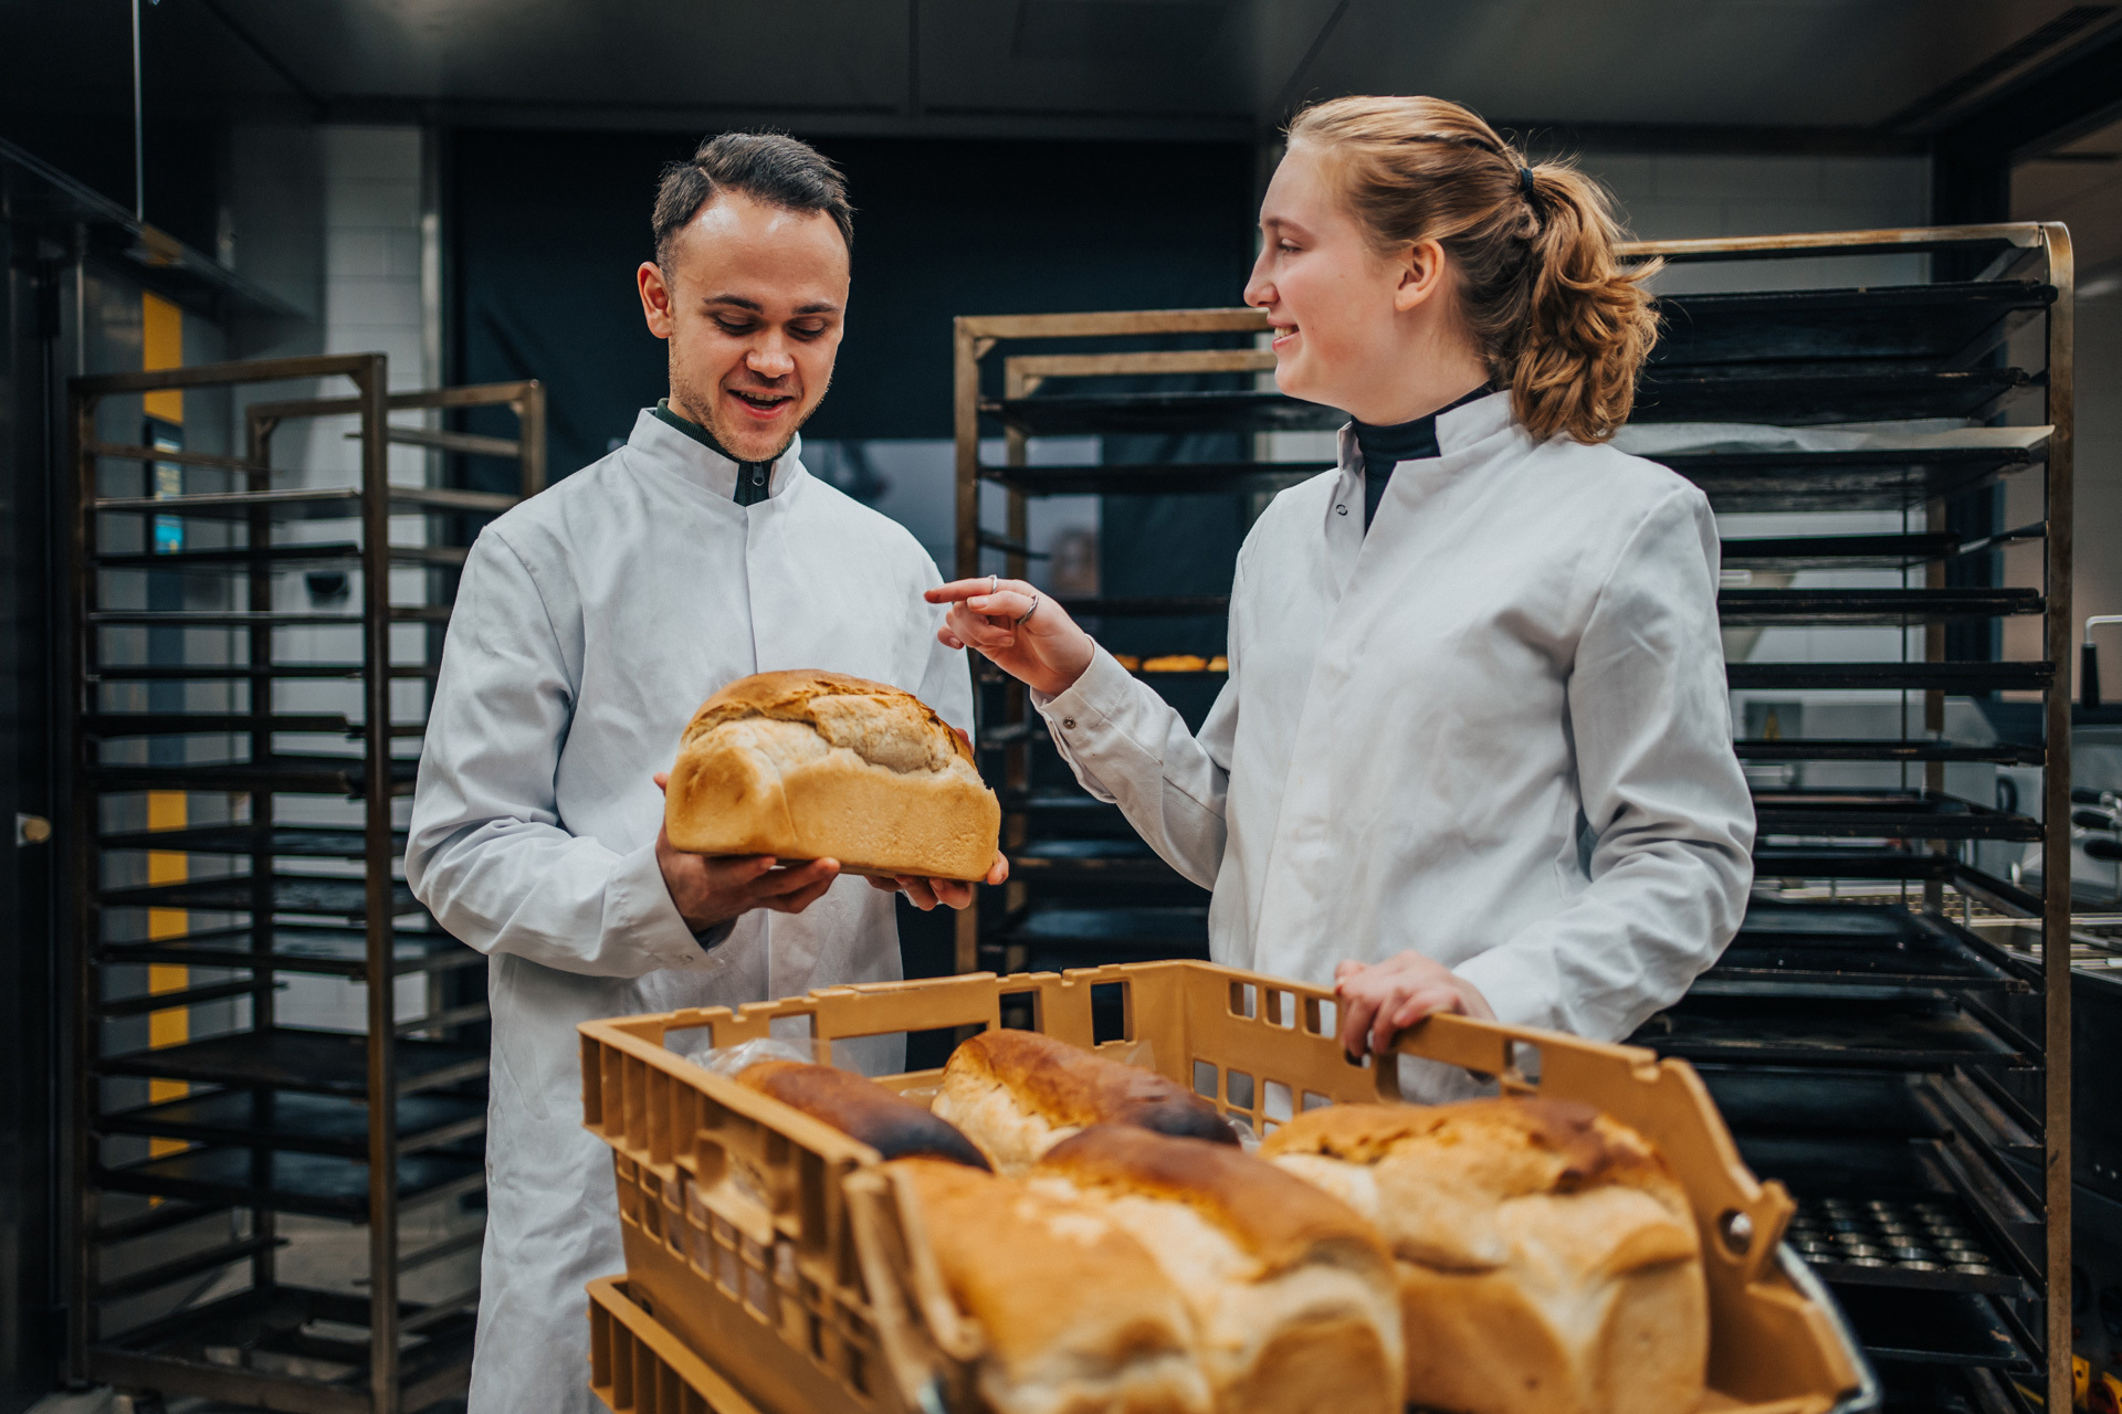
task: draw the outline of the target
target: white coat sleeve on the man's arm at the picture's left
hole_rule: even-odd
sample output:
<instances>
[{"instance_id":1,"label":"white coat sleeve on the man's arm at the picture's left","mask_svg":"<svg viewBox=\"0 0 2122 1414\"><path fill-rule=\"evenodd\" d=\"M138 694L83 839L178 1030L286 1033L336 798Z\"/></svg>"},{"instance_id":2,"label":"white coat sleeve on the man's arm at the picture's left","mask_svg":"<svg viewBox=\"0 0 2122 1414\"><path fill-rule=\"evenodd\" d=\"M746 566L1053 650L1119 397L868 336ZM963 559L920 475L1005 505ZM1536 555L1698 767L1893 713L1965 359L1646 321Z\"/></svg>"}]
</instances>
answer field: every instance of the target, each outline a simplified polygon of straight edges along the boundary
<instances>
[{"instance_id":1,"label":"white coat sleeve on the man's arm at the picture's left","mask_svg":"<svg viewBox=\"0 0 2122 1414\"><path fill-rule=\"evenodd\" d=\"M564 625L577 625L571 638ZM579 613L550 604L522 558L486 530L450 615L405 882L443 929L486 954L598 977L715 967L671 903L654 842L620 854L560 820L554 778L575 708L571 661Z\"/></svg>"}]
</instances>

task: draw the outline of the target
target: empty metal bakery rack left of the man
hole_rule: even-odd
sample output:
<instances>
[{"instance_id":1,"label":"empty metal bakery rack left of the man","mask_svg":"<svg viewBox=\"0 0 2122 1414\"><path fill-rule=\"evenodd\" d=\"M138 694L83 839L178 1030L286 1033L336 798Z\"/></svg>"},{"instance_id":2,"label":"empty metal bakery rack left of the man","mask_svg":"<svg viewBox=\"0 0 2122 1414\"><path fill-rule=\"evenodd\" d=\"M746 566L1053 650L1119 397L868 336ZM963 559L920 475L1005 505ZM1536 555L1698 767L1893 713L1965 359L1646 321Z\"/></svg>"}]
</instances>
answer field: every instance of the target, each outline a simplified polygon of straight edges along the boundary
<instances>
[{"instance_id":1,"label":"empty metal bakery rack left of the man","mask_svg":"<svg viewBox=\"0 0 2122 1414\"><path fill-rule=\"evenodd\" d=\"M405 888L405 810L543 390L388 392L382 354L70 390L72 1374L427 1408L471 1357L486 986ZM477 407L518 435L441 426Z\"/></svg>"}]
</instances>

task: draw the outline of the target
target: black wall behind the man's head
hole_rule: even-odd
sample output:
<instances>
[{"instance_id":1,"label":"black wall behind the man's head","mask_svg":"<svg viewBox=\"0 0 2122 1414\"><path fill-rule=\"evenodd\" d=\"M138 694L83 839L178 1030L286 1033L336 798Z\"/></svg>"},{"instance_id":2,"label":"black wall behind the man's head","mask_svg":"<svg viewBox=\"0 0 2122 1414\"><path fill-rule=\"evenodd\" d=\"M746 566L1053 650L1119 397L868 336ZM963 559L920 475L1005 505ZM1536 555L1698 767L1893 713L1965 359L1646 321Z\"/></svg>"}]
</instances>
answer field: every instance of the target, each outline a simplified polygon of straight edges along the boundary
<instances>
[{"instance_id":1,"label":"black wall behind the man's head","mask_svg":"<svg viewBox=\"0 0 2122 1414\"><path fill-rule=\"evenodd\" d=\"M452 382L541 377L550 458L605 456L666 390L641 322L662 163L696 136L458 131ZM813 437L949 437L959 314L1235 305L1246 144L819 138L855 199L847 343Z\"/></svg>"}]
</instances>

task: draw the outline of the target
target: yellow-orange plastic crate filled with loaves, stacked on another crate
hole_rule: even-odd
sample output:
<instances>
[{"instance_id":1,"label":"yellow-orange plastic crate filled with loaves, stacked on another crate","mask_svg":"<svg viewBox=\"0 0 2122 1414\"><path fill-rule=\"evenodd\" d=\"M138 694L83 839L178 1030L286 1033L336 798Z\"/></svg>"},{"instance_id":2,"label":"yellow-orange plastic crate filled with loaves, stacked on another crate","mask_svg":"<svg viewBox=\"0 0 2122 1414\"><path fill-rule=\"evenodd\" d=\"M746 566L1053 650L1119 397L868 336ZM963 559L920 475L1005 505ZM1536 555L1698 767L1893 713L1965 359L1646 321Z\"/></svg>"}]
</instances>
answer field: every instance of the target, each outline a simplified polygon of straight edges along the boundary
<instances>
[{"instance_id":1,"label":"yellow-orange plastic crate filled with loaves, stacked on another crate","mask_svg":"<svg viewBox=\"0 0 2122 1414\"><path fill-rule=\"evenodd\" d=\"M982 1030L999 1026L1006 1009L1084 1047L1148 1043L1156 1071L1254 1132L1316 1104L1398 1098L1396 1066L1358 1066L1341 1054L1333 992L1210 962L972 973L584 1022L584 1119L615 1151L637 1300L772 1414L957 1406L963 1331L949 1329L934 1272L923 1272L925 1251L908 1240L919 1213L881 1172L866 1174L879 1166L876 1151L688 1062L664 1041L705 1030L717 1047L736 1045L766 1037L772 1022L783 1022L783 1035L806 1024L823 1041ZM1833 1302L1780 1244L1789 1194L1746 1170L1691 1066L1640 1047L1458 1015L1430 1018L1394 1047L1494 1075L1509 1094L1594 1104L1659 1147L1702 1234L1706 1410L1859 1414L1878 1406ZM1532 1066L1519 1066L1528 1049L1538 1054L1536 1083L1526 1079ZM940 1071L881 1079L921 1090Z\"/></svg>"}]
</instances>

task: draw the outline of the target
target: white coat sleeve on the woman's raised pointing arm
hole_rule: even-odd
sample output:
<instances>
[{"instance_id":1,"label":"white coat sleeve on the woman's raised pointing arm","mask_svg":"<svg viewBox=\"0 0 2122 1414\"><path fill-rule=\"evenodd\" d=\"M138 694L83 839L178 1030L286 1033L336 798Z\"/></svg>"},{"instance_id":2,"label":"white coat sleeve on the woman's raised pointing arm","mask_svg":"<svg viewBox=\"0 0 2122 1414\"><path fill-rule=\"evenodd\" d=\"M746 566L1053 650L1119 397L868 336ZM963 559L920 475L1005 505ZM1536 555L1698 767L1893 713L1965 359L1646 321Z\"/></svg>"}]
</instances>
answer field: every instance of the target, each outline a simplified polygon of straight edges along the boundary
<instances>
[{"instance_id":1,"label":"white coat sleeve on the woman's raised pointing arm","mask_svg":"<svg viewBox=\"0 0 2122 1414\"><path fill-rule=\"evenodd\" d=\"M1239 560L1231 604L1246 579ZM1231 676L1201 723L1201 733L1156 689L1097 649L1065 693L1031 693L1046 729L1082 789L1116 803L1159 859L1201 888L1222 869L1224 799L1231 793L1231 750L1237 742L1237 634L1231 634Z\"/></svg>"}]
</instances>

